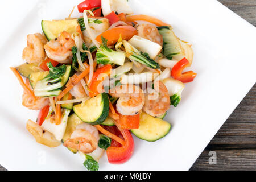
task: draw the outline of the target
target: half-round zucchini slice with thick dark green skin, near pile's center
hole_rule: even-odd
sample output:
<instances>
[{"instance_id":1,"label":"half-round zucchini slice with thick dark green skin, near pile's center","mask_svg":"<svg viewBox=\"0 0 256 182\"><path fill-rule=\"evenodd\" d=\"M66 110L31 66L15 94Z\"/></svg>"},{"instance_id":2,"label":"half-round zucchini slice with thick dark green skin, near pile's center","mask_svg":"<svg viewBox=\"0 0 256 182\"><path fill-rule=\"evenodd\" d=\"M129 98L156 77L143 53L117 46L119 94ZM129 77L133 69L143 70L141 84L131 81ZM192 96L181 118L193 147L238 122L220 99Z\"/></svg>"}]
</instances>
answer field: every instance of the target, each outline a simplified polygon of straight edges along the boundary
<instances>
[{"instance_id":1,"label":"half-round zucchini slice with thick dark green skin, near pile's center","mask_svg":"<svg viewBox=\"0 0 256 182\"><path fill-rule=\"evenodd\" d=\"M96 97L98 96L101 96L101 103L99 103L98 105L100 105L99 107L96 107L96 108L88 108L86 107L86 102L90 101L90 100L95 100ZM86 123L89 123L90 125L101 125L101 123L103 123L106 118L108 118L108 115L109 115L109 98L108 98L108 94L106 93L102 93L102 94L99 94L98 96L94 97L94 98L91 98L90 100L86 101L84 106L82 107L81 104L79 105L75 105L73 106L73 111L75 112L75 114L77 115L77 117L79 117L83 122L86 122ZM102 106L101 106L102 105ZM92 107L92 106L90 106ZM102 108L100 108L102 107ZM98 110L98 109L101 109L101 113L100 115L96 115L96 119L93 119L93 121L88 121L88 115L83 115L84 112L82 112L82 110L89 110L89 109L92 109L92 110ZM86 118L87 117L87 118ZM94 117L94 116L92 116Z\"/></svg>"}]
</instances>

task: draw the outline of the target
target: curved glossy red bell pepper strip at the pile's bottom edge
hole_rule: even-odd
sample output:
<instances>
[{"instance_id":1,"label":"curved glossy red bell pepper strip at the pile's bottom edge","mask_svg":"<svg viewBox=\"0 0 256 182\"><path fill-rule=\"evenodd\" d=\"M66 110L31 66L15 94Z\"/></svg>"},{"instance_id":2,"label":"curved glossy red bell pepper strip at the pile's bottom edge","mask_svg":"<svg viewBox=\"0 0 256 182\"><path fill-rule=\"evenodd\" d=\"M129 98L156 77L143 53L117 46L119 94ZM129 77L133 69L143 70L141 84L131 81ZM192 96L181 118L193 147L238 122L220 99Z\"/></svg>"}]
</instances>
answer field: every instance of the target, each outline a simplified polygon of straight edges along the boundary
<instances>
[{"instance_id":1,"label":"curved glossy red bell pepper strip at the pile's bottom edge","mask_svg":"<svg viewBox=\"0 0 256 182\"><path fill-rule=\"evenodd\" d=\"M122 147L110 146L106 154L108 156L109 163L122 164L131 158L134 151L134 140L129 130L119 129L125 139L125 145Z\"/></svg>"}]
</instances>

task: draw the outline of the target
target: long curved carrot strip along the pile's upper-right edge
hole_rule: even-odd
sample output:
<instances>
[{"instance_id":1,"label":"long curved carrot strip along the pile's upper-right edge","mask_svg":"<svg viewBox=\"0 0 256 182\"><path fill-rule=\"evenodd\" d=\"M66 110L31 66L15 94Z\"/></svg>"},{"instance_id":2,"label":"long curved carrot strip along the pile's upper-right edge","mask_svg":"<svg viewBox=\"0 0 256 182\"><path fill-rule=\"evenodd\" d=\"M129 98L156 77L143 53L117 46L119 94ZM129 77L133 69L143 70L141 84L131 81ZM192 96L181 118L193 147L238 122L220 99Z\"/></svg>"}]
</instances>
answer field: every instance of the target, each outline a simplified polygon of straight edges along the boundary
<instances>
[{"instance_id":1,"label":"long curved carrot strip along the pile's upper-right edge","mask_svg":"<svg viewBox=\"0 0 256 182\"><path fill-rule=\"evenodd\" d=\"M170 24L164 23L161 20L148 15L132 15L126 16L127 22L145 21L155 24L156 26L170 26Z\"/></svg>"}]
</instances>

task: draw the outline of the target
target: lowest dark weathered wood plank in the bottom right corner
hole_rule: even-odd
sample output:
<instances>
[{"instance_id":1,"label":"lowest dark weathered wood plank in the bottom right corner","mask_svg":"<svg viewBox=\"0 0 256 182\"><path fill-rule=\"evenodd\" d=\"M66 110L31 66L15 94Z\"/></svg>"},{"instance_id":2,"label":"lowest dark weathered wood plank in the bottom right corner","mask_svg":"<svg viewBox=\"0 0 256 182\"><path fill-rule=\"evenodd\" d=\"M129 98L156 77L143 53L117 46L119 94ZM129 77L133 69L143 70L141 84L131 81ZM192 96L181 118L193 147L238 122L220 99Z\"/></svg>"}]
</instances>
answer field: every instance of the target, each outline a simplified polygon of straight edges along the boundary
<instances>
[{"instance_id":1,"label":"lowest dark weathered wood plank in the bottom right corner","mask_svg":"<svg viewBox=\"0 0 256 182\"><path fill-rule=\"evenodd\" d=\"M205 150L191 170L256 170L256 150L215 150L215 152L216 164L209 164L211 155Z\"/></svg>"}]
</instances>

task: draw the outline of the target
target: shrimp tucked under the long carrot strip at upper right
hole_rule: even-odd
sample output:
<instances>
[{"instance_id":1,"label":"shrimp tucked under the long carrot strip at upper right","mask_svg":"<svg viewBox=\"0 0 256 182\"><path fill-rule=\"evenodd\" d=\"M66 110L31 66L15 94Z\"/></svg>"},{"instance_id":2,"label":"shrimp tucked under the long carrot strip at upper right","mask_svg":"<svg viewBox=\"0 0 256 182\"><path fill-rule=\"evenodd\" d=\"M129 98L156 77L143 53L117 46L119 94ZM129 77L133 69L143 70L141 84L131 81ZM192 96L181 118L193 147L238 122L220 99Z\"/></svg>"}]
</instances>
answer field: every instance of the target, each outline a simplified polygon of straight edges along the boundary
<instances>
[{"instance_id":1,"label":"shrimp tucked under the long carrot strip at upper right","mask_svg":"<svg viewBox=\"0 0 256 182\"><path fill-rule=\"evenodd\" d=\"M137 27L137 31L138 36L141 36L142 38L151 40L152 42L155 42L160 46L163 46L163 36L160 35L158 29L152 24L140 24Z\"/></svg>"}]
</instances>

